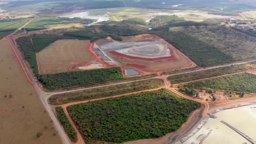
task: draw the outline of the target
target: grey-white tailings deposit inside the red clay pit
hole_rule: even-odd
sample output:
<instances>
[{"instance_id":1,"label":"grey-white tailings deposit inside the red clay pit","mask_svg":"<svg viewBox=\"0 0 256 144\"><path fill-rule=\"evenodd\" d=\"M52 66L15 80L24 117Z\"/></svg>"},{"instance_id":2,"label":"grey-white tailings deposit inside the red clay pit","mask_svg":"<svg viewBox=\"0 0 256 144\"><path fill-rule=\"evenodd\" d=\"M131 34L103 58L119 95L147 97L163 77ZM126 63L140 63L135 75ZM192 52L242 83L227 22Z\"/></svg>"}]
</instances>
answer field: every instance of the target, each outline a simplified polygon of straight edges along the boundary
<instances>
[{"instance_id":1,"label":"grey-white tailings deposit inside the red clay pit","mask_svg":"<svg viewBox=\"0 0 256 144\"><path fill-rule=\"evenodd\" d=\"M160 58L171 56L167 43L163 40L139 42L102 41L96 43L102 51L116 51L128 56Z\"/></svg>"}]
</instances>

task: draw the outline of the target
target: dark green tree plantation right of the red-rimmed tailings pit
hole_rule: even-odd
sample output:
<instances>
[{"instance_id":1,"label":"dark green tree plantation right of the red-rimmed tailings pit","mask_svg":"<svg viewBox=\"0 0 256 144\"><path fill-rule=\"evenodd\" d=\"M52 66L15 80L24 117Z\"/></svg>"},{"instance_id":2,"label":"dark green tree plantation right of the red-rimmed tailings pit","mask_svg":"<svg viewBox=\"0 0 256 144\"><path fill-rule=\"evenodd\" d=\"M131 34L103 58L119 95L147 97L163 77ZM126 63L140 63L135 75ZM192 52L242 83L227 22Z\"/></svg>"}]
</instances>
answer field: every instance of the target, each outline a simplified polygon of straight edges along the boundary
<instances>
[{"instance_id":1,"label":"dark green tree plantation right of the red-rimmed tailings pit","mask_svg":"<svg viewBox=\"0 0 256 144\"><path fill-rule=\"evenodd\" d=\"M221 52L218 48L184 33L154 32L154 34L174 45L200 67L209 67L233 61L231 56Z\"/></svg>"}]
</instances>

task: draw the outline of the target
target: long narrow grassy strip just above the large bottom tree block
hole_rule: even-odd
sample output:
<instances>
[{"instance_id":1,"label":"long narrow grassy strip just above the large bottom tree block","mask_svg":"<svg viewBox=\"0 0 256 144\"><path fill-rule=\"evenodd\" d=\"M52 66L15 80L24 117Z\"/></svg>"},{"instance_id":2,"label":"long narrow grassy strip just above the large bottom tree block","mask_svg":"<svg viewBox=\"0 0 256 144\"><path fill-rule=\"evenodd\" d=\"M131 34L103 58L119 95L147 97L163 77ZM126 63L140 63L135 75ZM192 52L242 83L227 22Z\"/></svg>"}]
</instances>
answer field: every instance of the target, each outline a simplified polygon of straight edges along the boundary
<instances>
[{"instance_id":1,"label":"long narrow grassy strip just above the large bottom tree block","mask_svg":"<svg viewBox=\"0 0 256 144\"><path fill-rule=\"evenodd\" d=\"M73 101L83 101L88 99L96 99L106 96L114 96L118 94L131 93L135 91L143 91L147 89L159 88L163 86L163 80L151 79L120 85L111 85L101 88L93 88L72 93L64 93L51 96L49 101L51 104L59 105Z\"/></svg>"}]
</instances>

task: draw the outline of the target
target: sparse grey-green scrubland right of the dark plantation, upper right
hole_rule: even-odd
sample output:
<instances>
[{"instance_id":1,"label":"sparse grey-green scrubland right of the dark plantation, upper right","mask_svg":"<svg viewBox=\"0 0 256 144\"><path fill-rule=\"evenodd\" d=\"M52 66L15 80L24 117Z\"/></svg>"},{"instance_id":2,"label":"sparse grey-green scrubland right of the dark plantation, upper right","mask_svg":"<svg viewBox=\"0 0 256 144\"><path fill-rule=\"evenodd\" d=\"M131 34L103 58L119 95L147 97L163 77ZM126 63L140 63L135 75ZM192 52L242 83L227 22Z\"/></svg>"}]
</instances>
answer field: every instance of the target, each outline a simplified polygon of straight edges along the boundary
<instances>
[{"instance_id":1,"label":"sparse grey-green scrubland right of the dark plantation, upper right","mask_svg":"<svg viewBox=\"0 0 256 144\"><path fill-rule=\"evenodd\" d=\"M203 42L213 45L221 52L232 56L235 60L242 60L256 56L256 38L245 35L224 26L190 26L171 28L171 31L185 32Z\"/></svg>"}]
</instances>

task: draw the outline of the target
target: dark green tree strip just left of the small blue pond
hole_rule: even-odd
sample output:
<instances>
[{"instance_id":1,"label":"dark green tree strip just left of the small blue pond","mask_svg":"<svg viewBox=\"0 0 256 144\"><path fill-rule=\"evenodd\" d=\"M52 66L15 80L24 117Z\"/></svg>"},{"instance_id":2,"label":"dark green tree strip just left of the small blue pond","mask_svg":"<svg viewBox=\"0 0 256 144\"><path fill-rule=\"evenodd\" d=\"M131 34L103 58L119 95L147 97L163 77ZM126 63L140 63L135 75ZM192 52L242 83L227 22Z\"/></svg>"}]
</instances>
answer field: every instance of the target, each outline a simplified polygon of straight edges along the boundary
<instances>
[{"instance_id":1,"label":"dark green tree strip just left of the small blue pond","mask_svg":"<svg viewBox=\"0 0 256 144\"><path fill-rule=\"evenodd\" d=\"M38 78L43 84L43 87L48 90L88 86L123 79L124 77L120 67L45 74L40 75Z\"/></svg>"}]
</instances>

